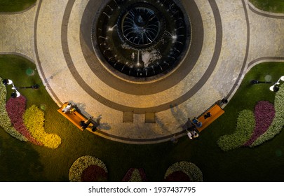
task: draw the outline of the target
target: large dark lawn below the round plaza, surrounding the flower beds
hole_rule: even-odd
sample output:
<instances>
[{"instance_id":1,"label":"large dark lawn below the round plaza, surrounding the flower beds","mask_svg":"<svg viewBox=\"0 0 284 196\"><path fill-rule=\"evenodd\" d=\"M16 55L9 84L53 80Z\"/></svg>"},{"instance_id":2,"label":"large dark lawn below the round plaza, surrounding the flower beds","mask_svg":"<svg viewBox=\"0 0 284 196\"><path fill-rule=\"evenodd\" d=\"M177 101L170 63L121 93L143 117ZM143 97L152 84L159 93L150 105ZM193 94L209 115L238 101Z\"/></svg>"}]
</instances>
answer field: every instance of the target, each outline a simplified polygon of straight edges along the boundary
<instances>
[{"instance_id":1,"label":"large dark lawn below the round plaza, surrounding the flower beds","mask_svg":"<svg viewBox=\"0 0 284 196\"><path fill-rule=\"evenodd\" d=\"M58 106L49 97L32 62L14 55L0 55L0 76L10 78L15 85L38 83L39 90L21 90L28 105L46 104L46 132L62 137L62 146L55 150L13 139L0 128L0 181L69 181L72 163L82 155L100 158L107 165L109 181L121 181L130 167L144 168L149 181L163 181L165 171L175 162L186 160L203 172L204 181L283 181L284 133L256 148L239 148L224 153L217 139L234 132L236 117L243 109L253 109L257 101L273 102L269 85L250 85L250 80L264 80L271 75L277 80L283 75L283 63L263 63L255 66L244 78L225 113L201 132L196 140L187 137L177 144L165 142L151 145L121 144L81 132L56 111ZM9 92L10 94L10 92Z\"/></svg>"}]
</instances>

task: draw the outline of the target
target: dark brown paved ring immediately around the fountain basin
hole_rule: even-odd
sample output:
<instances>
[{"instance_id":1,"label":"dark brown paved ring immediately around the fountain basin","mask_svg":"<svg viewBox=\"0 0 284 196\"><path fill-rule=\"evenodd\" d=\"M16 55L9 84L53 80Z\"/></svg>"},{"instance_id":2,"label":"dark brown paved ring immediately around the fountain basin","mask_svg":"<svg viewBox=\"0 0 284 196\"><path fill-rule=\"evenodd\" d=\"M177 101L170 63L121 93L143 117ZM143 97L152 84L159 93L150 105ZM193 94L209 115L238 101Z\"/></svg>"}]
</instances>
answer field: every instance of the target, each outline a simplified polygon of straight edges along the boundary
<instances>
[{"instance_id":1,"label":"dark brown paved ring immediately around the fountain basin","mask_svg":"<svg viewBox=\"0 0 284 196\"><path fill-rule=\"evenodd\" d=\"M189 20L190 18L192 20L192 24L194 25L194 28L191 29L191 47L189 48L189 52L187 53L184 62L182 62L182 64L177 68L177 70L173 71L172 74L169 74L168 78L161 78L161 80L153 80L144 83L134 83L129 82L128 80L122 80L117 76L114 76L110 71L104 69L104 66L102 66L100 62L100 59L98 59L97 55L93 50L93 44L91 41L92 36L90 35L90 29L92 29L93 18L95 18L95 13L97 13L98 10L101 10L102 7L104 7L104 5L106 4L105 1L103 1L99 5L97 5L96 2L96 0L88 1L88 4L83 13L83 17L81 19L81 50L83 52L84 59L88 64L88 68L93 72L93 74L95 74L97 78L100 78L103 83L109 85L109 87L113 88L114 90L119 90L120 92L133 95L148 95L163 92L164 90L172 88L178 83L180 83L183 78L185 78L192 71L194 66L196 66L196 64L198 63L198 59L201 55L204 43L204 27L202 22L202 15L200 13L200 10L198 9L198 5L195 3L194 0L189 0L191 6L186 7L182 6L182 1L177 1L177 3L179 3L180 8L183 9L184 13L187 13L187 20ZM68 46L66 45L68 41L66 40L65 36L62 36L62 38L62 48L65 48L65 50L67 51L65 55L67 56L67 61L70 62L70 66L74 67L72 65L72 60L70 59L71 57L69 57L68 55ZM69 69L73 70L72 67L69 67ZM212 73L212 69L208 71L210 74ZM83 87L84 90L88 92L88 90L90 90L90 86L87 83L82 83L83 78L80 78L78 74L74 73L74 76L75 78L79 77L77 82L79 83L79 85L81 85L81 87ZM201 85L201 83L198 84L199 86ZM191 90L188 93L191 94L191 92L195 92L195 90ZM98 99L98 94L93 91L91 91L91 94L92 97ZM105 101L107 102L107 100Z\"/></svg>"}]
</instances>

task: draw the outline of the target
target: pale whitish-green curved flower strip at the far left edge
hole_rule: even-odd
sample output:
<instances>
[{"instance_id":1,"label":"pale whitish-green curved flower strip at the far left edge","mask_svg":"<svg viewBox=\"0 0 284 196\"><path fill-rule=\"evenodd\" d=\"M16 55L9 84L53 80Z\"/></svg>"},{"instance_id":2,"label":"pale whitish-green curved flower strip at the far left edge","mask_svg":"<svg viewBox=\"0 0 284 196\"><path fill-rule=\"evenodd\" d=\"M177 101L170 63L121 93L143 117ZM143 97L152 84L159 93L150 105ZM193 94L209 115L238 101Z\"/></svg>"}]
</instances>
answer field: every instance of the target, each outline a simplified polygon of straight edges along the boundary
<instances>
[{"instance_id":1,"label":"pale whitish-green curved flower strip at the far left edge","mask_svg":"<svg viewBox=\"0 0 284 196\"><path fill-rule=\"evenodd\" d=\"M0 81L2 79L0 78ZM27 141L22 134L20 134L11 124L11 120L8 117L8 113L6 111L6 86L1 82L0 83L0 126L10 134L12 137L19 139L20 141Z\"/></svg>"}]
</instances>

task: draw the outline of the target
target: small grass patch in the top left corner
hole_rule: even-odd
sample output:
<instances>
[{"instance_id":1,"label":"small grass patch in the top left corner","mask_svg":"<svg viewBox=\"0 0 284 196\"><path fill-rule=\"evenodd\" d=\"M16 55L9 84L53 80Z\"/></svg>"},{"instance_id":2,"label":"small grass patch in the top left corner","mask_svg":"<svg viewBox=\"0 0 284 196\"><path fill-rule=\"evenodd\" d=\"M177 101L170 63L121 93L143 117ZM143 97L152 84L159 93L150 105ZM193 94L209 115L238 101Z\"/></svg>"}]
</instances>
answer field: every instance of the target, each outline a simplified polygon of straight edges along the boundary
<instances>
[{"instance_id":1,"label":"small grass patch in the top left corner","mask_svg":"<svg viewBox=\"0 0 284 196\"><path fill-rule=\"evenodd\" d=\"M0 13L18 12L36 3L36 0L0 0Z\"/></svg>"}]
</instances>

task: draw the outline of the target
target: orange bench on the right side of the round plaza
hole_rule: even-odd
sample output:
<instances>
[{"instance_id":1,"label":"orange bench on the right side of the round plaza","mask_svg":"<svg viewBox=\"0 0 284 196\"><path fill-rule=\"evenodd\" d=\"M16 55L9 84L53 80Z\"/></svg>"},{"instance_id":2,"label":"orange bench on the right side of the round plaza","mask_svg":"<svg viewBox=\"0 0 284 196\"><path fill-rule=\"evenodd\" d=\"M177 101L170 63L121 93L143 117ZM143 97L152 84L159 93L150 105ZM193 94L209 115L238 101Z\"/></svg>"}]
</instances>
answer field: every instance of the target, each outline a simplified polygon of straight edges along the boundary
<instances>
[{"instance_id":1,"label":"orange bench on the right side of the round plaza","mask_svg":"<svg viewBox=\"0 0 284 196\"><path fill-rule=\"evenodd\" d=\"M206 113L210 112L211 116L208 118L204 118L204 115ZM197 130L199 132L201 132L202 130L204 130L206 127L208 127L208 125L210 125L211 123L213 123L217 118L219 118L219 116L221 116L224 113L224 110L218 105L215 104L214 106L212 106L210 109L208 109L207 111L205 111L200 117L198 117L197 119L202 123L202 127L197 128Z\"/></svg>"}]
</instances>

